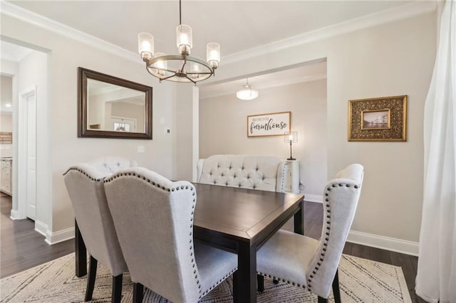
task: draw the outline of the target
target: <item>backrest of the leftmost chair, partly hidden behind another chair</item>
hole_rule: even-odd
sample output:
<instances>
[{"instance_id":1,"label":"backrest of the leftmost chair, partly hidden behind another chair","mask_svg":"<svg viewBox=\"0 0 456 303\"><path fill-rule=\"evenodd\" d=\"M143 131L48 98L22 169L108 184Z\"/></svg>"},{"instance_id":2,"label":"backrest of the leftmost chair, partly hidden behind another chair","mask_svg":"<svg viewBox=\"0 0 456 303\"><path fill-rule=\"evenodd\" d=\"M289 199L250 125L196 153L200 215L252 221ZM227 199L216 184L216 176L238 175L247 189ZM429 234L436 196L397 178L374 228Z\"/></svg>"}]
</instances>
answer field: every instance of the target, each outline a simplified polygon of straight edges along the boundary
<instances>
[{"instance_id":1,"label":"backrest of the leftmost chair, partly hidden behind another chair","mask_svg":"<svg viewBox=\"0 0 456 303\"><path fill-rule=\"evenodd\" d=\"M114 275L127 270L106 201L103 179L135 163L106 157L71 166L64 176L78 228L90 255Z\"/></svg>"}]
</instances>

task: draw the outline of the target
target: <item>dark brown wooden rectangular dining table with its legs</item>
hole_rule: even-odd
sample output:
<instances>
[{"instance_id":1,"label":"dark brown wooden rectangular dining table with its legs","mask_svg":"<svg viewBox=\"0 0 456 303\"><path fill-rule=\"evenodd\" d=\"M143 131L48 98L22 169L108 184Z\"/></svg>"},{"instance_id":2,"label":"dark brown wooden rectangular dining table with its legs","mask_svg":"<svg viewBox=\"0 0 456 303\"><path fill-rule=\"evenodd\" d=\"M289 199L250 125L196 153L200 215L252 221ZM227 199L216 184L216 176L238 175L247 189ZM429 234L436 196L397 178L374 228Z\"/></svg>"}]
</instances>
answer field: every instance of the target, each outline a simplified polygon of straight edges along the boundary
<instances>
[{"instance_id":1,"label":"dark brown wooden rectangular dining table with its legs","mask_svg":"<svg viewBox=\"0 0 456 303\"><path fill-rule=\"evenodd\" d=\"M304 234L304 195L193 185L195 239L237 254L234 302L257 302L257 250L290 218L294 218L294 232ZM75 230L76 276L81 277L87 273L87 252L77 222Z\"/></svg>"}]
</instances>

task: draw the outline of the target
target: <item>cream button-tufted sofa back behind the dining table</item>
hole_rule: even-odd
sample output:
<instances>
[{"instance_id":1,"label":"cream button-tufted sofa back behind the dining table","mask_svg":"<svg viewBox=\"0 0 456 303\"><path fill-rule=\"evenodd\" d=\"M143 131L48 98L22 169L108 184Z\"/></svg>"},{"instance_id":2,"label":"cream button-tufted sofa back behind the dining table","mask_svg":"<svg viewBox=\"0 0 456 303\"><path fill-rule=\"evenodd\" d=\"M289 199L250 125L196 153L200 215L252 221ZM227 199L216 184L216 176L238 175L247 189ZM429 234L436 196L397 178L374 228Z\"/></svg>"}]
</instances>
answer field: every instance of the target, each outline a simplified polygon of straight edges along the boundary
<instances>
[{"instance_id":1,"label":"cream button-tufted sofa back behind the dining table","mask_svg":"<svg viewBox=\"0 0 456 303\"><path fill-rule=\"evenodd\" d=\"M197 163L197 182L284 192L286 162L273 156L218 154Z\"/></svg>"}]
</instances>

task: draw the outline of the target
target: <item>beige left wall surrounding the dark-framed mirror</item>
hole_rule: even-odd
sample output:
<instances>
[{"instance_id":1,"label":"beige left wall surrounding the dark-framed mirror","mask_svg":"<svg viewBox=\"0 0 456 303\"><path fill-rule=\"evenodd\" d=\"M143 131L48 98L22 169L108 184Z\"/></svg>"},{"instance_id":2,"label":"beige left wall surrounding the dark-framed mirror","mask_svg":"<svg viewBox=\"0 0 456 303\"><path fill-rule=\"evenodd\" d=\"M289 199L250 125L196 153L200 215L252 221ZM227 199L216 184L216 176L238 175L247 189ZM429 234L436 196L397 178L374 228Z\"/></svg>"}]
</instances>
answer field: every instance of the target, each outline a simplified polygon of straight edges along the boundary
<instances>
[{"instance_id":1,"label":"beige left wall surrounding the dark-framed mirror","mask_svg":"<svg viewBox=\"0 0 456 303\"><path fill-rule=\"evenodd\" d=\"M27 46L48 50L48 100L47 107L38 110L48 119L46 155L41 159L48 165L44 196L48 198L46 210L51 217L46 224L52 238L56 233L71 234L73 211L62 174L71 164L87 161L98 156L125 156L141 166L154 169L173 178L172 134L165 135L165 124L174 123L172 106L175 102L175 84L152 79L142 62L128 60L88 46L66 36L58 35L41 27L10 16L1 16L1 35L10 41L21 41ZM77 75L78 67L114 75L153 88L153 139L96 139L77 137ZM40 117L38 117L40 119ZM163 123L161 123L163 122ZM45 129L43 129L45 131ZM138 145L145 147L138 154ZM44 152L44 151L43 151ZM53 239L51 239L52 242Z\"/></svg>"}]
</instances>

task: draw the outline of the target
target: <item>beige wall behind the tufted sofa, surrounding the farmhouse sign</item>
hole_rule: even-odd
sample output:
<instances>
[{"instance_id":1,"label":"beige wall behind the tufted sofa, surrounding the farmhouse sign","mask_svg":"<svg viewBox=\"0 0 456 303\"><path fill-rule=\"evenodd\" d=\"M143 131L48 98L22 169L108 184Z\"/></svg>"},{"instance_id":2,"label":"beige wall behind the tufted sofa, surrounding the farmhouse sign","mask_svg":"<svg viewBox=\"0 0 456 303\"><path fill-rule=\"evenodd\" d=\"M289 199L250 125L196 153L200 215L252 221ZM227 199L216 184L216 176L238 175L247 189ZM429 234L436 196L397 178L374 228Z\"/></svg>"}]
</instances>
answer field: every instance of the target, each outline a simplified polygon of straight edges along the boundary
<instances>
[{"instance_id":1,"label":"beige wall behind the tufted sofa, surrounding the farmhouse sign","mask_svg":"<svg viewBox=\"0 0 456 303\"><path fill-rule=\"evenodd\" d=\"M204 88L201 88L204 90ZM326 79L260 90L255 100L236 95L199 100L199 156L257 154L286 159L284 136L247 137L247 116L291 112L291 130L298 132L293 156L300 161L304 193L321 196L326 179ZM321 201L321 199L320 199Z\"/></svg>"}]
</instances>

